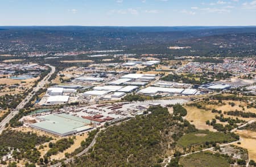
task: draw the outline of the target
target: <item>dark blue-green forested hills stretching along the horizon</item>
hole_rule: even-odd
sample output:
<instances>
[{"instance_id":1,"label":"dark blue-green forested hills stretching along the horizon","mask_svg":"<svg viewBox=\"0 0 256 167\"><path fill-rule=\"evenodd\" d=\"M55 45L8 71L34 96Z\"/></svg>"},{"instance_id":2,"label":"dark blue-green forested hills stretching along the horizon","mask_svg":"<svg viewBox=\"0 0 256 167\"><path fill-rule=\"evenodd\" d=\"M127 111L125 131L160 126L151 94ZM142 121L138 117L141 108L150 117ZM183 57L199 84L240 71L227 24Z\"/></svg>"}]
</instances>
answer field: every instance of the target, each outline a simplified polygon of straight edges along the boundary
<instances>
[{"instance_id":1,"label":"dark blue-green forested hills stretching along the horizon","mask_svg":"<svg viewBox=\"0 0 256 167\"><path fill-rule=\"evenodd\" d=\"M249 54L255 54L256 27L63 26L0 27L0 30L2 53L122 49L135 53L203 55L215 54L213 50L219 47L213 44L223 42L227 45L232 43L232 46L221 48L225 52L251 46L253 50ZM191 50L197 51L167 49L172 45L191 45Z\"/></svg>"}]
</instances>

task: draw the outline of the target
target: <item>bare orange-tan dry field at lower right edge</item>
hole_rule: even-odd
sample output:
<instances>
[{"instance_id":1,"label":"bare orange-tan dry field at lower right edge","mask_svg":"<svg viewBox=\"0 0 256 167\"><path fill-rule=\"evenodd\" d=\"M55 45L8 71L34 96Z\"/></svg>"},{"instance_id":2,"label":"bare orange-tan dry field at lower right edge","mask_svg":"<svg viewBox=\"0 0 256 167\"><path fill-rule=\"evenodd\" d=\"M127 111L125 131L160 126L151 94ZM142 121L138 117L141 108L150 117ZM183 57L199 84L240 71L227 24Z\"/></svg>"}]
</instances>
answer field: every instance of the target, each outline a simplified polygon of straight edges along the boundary
<instances>
[{"instance_id":1,"label":"bare orange-tan dry field at lower right edge","mask_svg":"<svg viewBox=\"0 0 256 167\"><path fill-rule=\"evenodd\" d=\"M241 144L235 144L246 148L249 153L249 159L256 161L256 132L250 130L238 130L236 134L242 138Z\"/></svg>"}]
</instances>

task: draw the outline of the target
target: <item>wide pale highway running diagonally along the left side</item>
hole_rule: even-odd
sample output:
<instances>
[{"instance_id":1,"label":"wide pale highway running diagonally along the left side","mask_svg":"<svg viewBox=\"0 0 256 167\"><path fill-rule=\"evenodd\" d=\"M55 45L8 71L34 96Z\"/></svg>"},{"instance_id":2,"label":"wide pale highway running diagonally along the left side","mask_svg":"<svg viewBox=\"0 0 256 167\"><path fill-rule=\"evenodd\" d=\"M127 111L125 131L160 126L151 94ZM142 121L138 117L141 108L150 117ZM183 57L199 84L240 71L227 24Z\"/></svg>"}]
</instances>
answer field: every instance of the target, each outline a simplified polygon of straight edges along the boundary
<instances>
[{"instance_id":1,"label":"wide pale highway running diagonally along the left side","mask_svg":"<svg viewBox=\"0 0 256 167\"><path fill-rule=\"evenodd\" d=\"M44 77L44 79L42 79L38 83L38 85L36 85L36 87L34 87L33 90L30 93L28 93L28 95L25 97L25 99L22 100L22 102L20 102L20 104L16 107L16 109L12 110L11 113L7 115L5 119L3 119L3 121L0 123L0 134L5 129L6 123L9 123L10 120L13 119L16 114L19 113L19 109L24 108L24 106L27 104L28 101L31 100L31 98L35 95L35 93L39 91L40 88L43 88L44 85L46 85L46 83L49 82L50 76L55 72L55 67L51 65L47 65L47 66L51 67L51 72L49 72L49 74L47 74L46 77Z\"/></svg>"}]
</instances>

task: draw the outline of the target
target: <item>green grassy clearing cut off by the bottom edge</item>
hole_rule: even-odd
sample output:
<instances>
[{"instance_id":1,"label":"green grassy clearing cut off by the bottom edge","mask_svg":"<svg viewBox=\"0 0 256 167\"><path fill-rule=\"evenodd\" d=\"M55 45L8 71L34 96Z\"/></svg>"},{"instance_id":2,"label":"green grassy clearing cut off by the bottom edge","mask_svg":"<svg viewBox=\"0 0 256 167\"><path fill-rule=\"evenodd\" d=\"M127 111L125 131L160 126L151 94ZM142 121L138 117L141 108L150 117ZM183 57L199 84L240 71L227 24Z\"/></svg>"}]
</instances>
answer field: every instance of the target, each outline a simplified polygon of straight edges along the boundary
<instances>
[{"instance_id":1,"label":"green grassy clearing cut off by the bottom edge","mask_svg":"<svg viewBox=\"0 0 256 167\"><path fill-rule=\"evenodd\" d=\"M180 164L184 167L227 167L230 166L228 160L224 157L212 155L210 153L195 153L181 157Z\"/></svg>"}]
</instances>

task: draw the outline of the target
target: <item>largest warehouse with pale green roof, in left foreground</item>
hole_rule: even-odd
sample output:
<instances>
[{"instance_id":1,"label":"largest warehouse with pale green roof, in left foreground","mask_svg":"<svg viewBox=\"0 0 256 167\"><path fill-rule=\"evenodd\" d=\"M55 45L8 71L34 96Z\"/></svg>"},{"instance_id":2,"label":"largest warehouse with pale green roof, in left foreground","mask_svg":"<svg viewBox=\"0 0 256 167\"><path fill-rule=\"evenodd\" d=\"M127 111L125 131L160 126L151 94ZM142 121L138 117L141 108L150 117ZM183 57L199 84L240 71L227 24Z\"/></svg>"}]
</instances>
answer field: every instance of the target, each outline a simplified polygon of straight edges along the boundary
<instances>
[{"instance_id":1,"label":"largest warehouse with pale green roof, in left foreground","mask_svg":"<svg viewBox=\"0 0 256 167\"><path fill-rule=\"evenodd\" d=\"M77 132L92 129L91 121L68 114L51 114L38 117L42 122L30 126L59 136L76 134Z\"/></svg>"}]
</instances>

